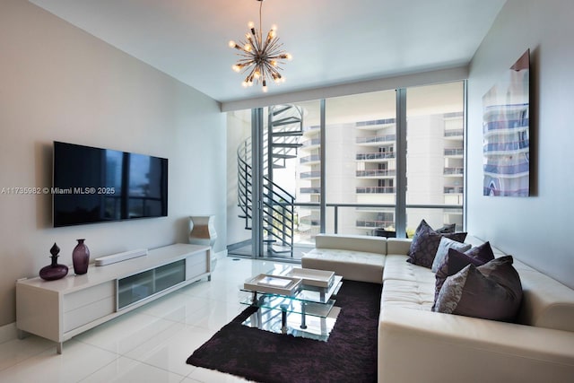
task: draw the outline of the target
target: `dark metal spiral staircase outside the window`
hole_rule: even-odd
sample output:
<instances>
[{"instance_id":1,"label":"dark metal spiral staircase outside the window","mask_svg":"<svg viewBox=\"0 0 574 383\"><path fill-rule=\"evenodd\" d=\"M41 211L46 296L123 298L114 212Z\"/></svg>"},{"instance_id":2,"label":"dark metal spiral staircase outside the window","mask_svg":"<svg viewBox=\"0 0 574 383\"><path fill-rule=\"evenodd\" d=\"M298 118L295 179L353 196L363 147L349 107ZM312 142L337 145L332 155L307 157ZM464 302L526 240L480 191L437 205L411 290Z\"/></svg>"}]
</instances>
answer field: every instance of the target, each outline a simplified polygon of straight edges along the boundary
<instances>
[{"instance_id":1,"label":"dark metal spiral staircase outside the window","mask_svg":"<svg viewBox=\"0 0 574 383\"><path fill-rule=\"evenodd\" d=\"M264 170L261 216L263 238L268 257L293 257L293 234L295 225L295 197L274 183L273 173L285 168L287 161L297 158L303 135L303 114L300 107L275 105L269 107L264 131ZM245 229L253 228L253 196L251 167L251 138L239 144L238 158L238 205Z\"/></svg>"}]
</instances>

